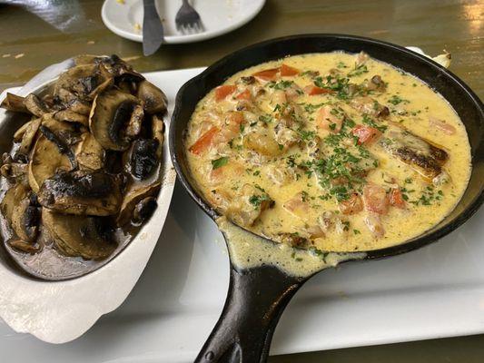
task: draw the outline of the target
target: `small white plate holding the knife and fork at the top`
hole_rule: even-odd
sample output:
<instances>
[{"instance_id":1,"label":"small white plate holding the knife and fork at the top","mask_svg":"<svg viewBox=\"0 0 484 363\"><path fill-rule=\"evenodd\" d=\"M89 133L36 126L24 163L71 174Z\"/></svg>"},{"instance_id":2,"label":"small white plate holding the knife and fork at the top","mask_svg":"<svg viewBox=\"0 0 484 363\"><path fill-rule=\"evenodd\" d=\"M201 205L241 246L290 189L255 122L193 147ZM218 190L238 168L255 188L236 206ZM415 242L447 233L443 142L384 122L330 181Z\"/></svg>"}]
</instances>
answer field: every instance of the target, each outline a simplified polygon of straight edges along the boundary
<instances>
[{"instance_id":1,"label":"small white plate holding the knife and fork at the top","mask_svg":"<svg viewBox=\"0 0 484 363\"><path fill-rule=\"evenodd\" d=\"M174 23L175 15L182 0L156 0L158 14L163 19L164 40L166 43L192 43L210 39L248 23L259 14L265 0L193 0L191 2L202 18L205 30L198 34L180 34ZM105 0L101 10L104 25L112 32L143 42L143 1Z\"/></svg>"}]
</instances>

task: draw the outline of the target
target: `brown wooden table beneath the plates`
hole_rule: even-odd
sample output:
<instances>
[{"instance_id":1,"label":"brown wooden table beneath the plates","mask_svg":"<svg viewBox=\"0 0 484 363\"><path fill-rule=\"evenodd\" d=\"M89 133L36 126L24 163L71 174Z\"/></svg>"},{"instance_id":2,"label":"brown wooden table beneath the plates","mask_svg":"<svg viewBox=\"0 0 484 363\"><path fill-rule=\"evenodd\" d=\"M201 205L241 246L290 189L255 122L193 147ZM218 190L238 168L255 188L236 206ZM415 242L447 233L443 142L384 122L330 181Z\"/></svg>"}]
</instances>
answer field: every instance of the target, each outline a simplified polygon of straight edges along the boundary
<instances>
[{"instance_id":1,"label":"brown wooden table beneath the plates","mask_svg":"<svg viewBox=\"0 0 484 363\"><path fill-rule=\"evenodd\" d=\"M5 0L0 0L0 4ZM118 54L139 71L212 64L264 39L302 33L370 36L452 54L451 71L484 96L484 3L449 0L268 0L260 15L231 34L199 44L166 45L151 57L142 46L111 33L100 0L6 0L0 5L0 91L25 83L45 66L74 54ZM24 5L20 5L23 3ZM18 4L18 5L15 5ZM35 5L38 4L38 5ZM481 362L484 335L270 358L282 362Z\"/></svg>"}]
</instances>

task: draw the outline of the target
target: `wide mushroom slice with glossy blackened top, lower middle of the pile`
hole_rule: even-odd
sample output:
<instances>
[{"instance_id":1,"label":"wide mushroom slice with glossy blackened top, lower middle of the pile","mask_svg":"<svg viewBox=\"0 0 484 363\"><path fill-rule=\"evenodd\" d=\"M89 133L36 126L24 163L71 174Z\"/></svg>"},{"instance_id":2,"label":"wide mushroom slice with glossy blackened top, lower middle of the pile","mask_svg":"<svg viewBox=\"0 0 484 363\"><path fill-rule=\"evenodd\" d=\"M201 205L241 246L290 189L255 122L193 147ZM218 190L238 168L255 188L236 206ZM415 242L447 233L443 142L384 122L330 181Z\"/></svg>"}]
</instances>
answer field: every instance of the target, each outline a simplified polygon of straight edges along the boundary
<instances>
[{"instance_id":1,"label":"wide mushroom slice with glossy blackened top, lower middle of the pile","mask_svg":"<svg viewBox=\"0 0 484 363\"><path fill-rule=\"evenodd\" d=\"M108 216L119 211L121 182L105 172L60 172L42 184L40 204L76 215Z\"/></svg>"}]
</instances>

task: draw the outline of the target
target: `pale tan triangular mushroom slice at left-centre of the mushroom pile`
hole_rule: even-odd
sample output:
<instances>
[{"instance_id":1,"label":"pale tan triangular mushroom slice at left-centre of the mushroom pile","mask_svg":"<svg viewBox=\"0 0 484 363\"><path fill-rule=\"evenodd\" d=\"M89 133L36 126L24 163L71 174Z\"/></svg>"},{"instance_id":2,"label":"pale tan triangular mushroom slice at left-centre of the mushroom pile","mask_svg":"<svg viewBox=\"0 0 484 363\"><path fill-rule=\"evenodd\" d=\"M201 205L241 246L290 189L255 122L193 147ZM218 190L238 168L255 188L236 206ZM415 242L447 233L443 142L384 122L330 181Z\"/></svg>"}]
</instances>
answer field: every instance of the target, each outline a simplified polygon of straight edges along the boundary
<instances>
[{"instance_id":1,"label":"pale tan triangular mushroom slice at left-centre of the mushroom pile","mask_svg":"<svg viewBox=\"0 0 484 363\"><path fill-rule=\"evenodd\" d=\"M69 158L54 142L41 135L35 142L28 165L28 182L33 191L38 192L45 179L54 176L59 170L71 170Z\"/></svg>"}]
</instances>

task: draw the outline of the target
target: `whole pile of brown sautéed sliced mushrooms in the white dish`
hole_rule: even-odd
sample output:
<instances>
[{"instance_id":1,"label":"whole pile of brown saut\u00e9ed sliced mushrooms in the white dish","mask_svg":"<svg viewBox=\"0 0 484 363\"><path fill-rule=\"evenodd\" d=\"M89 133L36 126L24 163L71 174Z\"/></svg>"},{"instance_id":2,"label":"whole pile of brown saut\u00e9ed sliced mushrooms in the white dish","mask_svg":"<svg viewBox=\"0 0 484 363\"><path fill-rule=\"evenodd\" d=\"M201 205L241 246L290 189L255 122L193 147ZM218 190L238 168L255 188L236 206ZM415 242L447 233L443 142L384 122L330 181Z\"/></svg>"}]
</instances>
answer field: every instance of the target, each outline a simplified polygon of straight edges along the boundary
<instances>
[{"instance_id":1,"label":"whole pile of brown saut\u00e9ed sliced mushrooms in the white dish","mask_svg":"<svg viewBox=\"0 0 484 363\"><path fill-rule=\"evenodd\" d=\"M114 221L139 224L156 208L166 96L115 55L75 64L46 93L2 103L33 116L0 162L14 184L0 211L12 249L34 254L52 240L67 256L101 260L117 248Z\"/></svg>"}]
</instances>

